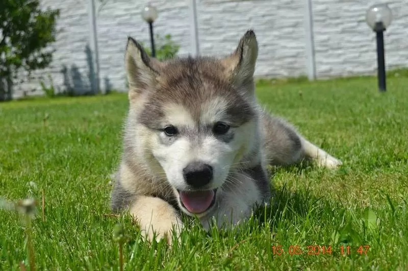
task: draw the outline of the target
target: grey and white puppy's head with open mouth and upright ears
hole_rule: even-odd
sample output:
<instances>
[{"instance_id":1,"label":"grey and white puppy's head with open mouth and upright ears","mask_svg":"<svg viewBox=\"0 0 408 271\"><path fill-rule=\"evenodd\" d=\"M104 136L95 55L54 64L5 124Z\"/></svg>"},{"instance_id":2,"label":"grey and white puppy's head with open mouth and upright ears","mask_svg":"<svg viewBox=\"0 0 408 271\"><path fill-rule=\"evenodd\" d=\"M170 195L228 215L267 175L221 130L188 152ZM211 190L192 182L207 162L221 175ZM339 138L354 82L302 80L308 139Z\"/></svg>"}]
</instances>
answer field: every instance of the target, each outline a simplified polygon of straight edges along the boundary
<instances>
[{"instance_id":1,"label":"grey and white puppy's head with open mouth and upright ears","mask_svg":"<svg viewBox=\"0 0 408 271\"><path fill-rule=\"evenodd\" d=\"M257 56L253 31L222 59L159 62L129 38L125 64L133 128L128 140L150 172L165 177L186 214L210 211L228 174L257 141Z\"/></svg>"}]
</instances>

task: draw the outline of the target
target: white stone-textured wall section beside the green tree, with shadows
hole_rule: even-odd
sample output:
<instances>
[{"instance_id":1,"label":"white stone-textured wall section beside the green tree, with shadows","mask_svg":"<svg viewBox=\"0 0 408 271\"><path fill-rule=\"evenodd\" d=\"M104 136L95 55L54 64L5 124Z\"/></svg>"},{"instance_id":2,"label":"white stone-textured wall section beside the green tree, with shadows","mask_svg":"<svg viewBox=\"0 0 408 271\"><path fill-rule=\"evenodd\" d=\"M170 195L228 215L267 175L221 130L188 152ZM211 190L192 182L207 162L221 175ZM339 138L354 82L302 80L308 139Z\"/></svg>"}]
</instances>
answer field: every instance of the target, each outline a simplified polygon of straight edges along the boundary
<instances>
[{"instance_id":1,"label":"white stone-textured wall section beside the green tree, with shadows","mask_svg":"<svg viewBox=\"0 0 408 271\"><path fill-rule=\"evenodd\" d=\"M90 91L89 60L87 59L87 45L89 41L89 18L86 1L70 0L42 0L42 6L60 9L57 21L58 34L56 42L50 46L55 49L52 64L45 70L37 71L32 80L15 85L14 96L25 94L42 94L40 81L51 86L49 76L58 92L67 88L75 88L77 92ZM27 74L20 75L23 79Z\"/></svg>"}]
</instances>

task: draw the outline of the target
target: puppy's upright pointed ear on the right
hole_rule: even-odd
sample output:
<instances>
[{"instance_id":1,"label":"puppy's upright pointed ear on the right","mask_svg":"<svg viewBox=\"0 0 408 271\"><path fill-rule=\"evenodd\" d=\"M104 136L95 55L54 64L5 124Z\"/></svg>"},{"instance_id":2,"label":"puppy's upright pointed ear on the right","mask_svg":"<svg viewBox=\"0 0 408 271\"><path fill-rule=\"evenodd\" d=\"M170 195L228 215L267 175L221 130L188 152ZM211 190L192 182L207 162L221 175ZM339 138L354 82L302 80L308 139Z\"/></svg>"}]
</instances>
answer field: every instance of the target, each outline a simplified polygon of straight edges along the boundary
<instances>
[{"instance_id":1,"label":"puppy's upright pointed ear on the right","mask_svg":"<svg viewBox=\"0 0 408 271\"><path fill-rule=\"evenodd\" d=\"M255 33L249 30L241 38L237 49L221 60L227 76L236 84L244 84L253 79L258 58L258 42Z\"/></svg>"}]
</instances>

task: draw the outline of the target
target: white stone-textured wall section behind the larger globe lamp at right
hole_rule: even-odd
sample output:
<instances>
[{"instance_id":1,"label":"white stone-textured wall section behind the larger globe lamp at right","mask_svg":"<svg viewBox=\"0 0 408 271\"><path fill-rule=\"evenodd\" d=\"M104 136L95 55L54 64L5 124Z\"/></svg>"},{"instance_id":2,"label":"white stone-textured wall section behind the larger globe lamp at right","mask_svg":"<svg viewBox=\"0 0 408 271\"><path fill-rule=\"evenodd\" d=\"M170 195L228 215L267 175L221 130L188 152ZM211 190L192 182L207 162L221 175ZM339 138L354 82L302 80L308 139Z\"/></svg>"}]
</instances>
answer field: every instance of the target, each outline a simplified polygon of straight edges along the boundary
<instances>
[{"instance_id":1,"label":"white stone-textured wall section behind the larger globe lamp at right","mask_svg":"<svg viewBox=\"0 0 408 271\"><path fill-rule=\"evenodd\" d=\"M316 71L320 78L372 74L377 68L375 33L366 10L381 1L313 0ZM386 65L408 67L408 2L389 4L391 26L385 32Z\"/></svg>"}]
</instances>

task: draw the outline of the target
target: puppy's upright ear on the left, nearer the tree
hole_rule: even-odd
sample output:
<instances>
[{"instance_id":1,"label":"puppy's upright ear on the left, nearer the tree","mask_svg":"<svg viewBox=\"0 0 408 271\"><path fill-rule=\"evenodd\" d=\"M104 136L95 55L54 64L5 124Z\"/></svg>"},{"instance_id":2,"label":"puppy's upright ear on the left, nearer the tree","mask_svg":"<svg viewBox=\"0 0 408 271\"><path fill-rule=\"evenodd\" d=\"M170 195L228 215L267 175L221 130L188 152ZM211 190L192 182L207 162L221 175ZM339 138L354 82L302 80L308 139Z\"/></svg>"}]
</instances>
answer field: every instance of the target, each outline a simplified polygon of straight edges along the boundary
<instances>
[{"instance_id":1,"label":"puppy's upright ear on the left, nearer the tree","mask_svg":"<svg viewBox=\"0 0 408 271\"><path fill-rule=\"evenodd\" d=\"M127 39L125 68L131 100L157 83L160 66L161 63L150 58L137 41L131 37Z\"/></svg>"}]
</instances>

